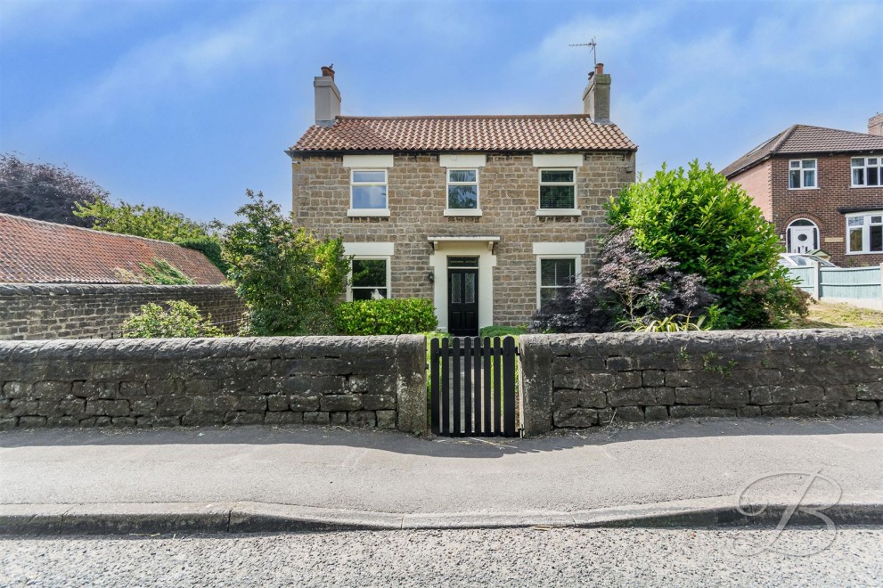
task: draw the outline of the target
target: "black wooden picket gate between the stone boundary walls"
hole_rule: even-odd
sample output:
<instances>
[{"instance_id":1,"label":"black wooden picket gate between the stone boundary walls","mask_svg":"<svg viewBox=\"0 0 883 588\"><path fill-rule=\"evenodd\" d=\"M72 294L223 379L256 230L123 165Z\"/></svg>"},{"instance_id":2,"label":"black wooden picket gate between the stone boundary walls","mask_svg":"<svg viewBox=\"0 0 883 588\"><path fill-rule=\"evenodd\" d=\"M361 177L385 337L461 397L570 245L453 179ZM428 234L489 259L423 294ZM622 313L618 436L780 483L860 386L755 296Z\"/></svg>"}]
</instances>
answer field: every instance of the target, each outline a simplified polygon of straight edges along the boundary
<instances>
[{"instance_id":1,"label":"black wooden picket gate between the stone boundary walls","mask_svg":"<svg viewBox=\"0 0 883 588\"><path fill-rule=\"evenodd\" d=\"M429 344L432 432L448 437L518 437L512 337L454 337Z\"/></svg>"}]
</instances>

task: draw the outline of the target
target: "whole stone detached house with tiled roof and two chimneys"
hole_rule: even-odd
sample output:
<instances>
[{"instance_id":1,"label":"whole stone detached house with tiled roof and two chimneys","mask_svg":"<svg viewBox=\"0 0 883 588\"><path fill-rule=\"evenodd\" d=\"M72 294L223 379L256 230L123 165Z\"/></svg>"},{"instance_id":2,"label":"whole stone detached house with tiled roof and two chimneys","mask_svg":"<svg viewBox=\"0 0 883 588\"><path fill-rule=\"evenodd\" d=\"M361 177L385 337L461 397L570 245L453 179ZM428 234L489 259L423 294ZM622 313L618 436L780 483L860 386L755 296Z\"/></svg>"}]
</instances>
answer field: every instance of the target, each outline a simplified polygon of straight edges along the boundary
<instances>
[{"instance_id":1,"label":"whole stone detached house with tiled roof and two chimneys","mask_svg":"<svg viewBox=\"0 0 883 588\"><path fill-rule=\"evenodd\" d=\"M287 151L293 212L354 256L347 299L429 298L460 335L527 323L592 263L603 203L634 181L602 64L583 113L560 115L340 116L322 73L315 125Z\"/></svg>"}]
</instances>

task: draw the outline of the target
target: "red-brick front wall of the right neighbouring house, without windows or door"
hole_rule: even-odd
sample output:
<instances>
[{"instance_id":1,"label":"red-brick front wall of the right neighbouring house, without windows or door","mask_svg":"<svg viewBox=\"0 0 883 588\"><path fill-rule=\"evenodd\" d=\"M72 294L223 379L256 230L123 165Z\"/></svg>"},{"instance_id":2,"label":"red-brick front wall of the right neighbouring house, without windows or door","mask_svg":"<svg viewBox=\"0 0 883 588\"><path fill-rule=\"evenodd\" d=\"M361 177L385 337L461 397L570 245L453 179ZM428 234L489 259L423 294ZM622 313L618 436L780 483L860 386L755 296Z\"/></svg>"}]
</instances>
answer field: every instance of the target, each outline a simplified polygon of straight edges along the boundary
<instances>
[{"instance_id":1,"label":"red-brick front wall of the right neighbouring house, without windows or door","mask_svg":"<svg viewBox=\"0 0 883 588\"><path fill-rule=\"evenodd\" d=\"M809 157L809 156L807 156ZM883 253L846 255L846 216L840 207L883 208L883 187L853 188L850 155L818 156L818 189L789 190L789 160L773 161L773 221L776 233L784 234L798 218L808 218L819 227L820 247L831 261L843 267L879 265Z\"/></svg>"}]
</instances>

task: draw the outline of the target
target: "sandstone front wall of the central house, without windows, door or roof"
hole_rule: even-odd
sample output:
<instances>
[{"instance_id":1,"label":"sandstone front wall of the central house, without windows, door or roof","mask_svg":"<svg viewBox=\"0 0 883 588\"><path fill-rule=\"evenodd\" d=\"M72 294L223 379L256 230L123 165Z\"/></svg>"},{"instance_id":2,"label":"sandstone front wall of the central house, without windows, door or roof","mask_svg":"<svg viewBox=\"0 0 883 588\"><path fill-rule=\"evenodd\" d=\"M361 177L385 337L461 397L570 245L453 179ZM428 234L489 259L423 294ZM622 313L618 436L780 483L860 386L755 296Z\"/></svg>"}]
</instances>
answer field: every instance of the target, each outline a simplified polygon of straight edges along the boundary
<instances>
[{"instance_id":1,"label":"sandstone front wall of the central house, without windows, door or roof","mask_svg":"<svg viewBox=\"0 0 883 588\"><path fill-rule=\"evenodd\" d=\"M580 216L536 216L539 168L530 154L488 153L478 174L482 216L444 216L446 168L437 154L399 154L388 169L388 217L347 217L350 170L342 157L296 157L293 210L298 225L347 242L395 242L394 298L432 299L427 237L497 236L493 323L527 323L536 311L535 242L585 241L583 270L606 232L604 202L634 181L634 152L593 152L576 170Z\"/></svg>"}]
</instances>

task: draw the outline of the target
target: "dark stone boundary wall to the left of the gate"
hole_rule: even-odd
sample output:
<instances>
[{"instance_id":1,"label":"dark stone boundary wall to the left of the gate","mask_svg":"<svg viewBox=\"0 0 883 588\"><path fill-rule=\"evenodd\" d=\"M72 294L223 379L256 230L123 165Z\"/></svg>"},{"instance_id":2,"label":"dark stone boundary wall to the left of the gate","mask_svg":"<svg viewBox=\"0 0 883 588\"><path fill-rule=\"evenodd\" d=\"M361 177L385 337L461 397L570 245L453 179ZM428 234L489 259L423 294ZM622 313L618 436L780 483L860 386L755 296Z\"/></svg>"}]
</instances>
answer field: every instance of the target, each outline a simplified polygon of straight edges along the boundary
<instances>
[{"instance_id":1,"label":"dark stone boundary wall to the left of the gate","mask_svg":"<svg viewBox=\"0 0 883 588\"><path fill-rule=\"evenodd\" d=\"M0 429L315 423L426 429L426 339L0 342Z\"/></svg>"}]
</instances>

